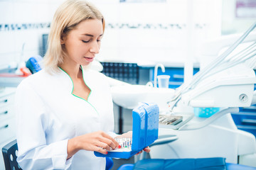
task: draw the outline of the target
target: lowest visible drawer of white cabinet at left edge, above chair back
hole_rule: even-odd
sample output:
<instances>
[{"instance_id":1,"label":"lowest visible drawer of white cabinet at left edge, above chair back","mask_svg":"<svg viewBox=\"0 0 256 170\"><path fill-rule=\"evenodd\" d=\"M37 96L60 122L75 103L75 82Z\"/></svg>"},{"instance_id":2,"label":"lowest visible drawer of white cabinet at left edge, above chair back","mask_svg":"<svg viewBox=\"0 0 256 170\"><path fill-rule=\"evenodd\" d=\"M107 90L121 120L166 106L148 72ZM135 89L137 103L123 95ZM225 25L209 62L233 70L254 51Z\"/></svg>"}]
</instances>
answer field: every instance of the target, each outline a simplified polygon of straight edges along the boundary
<instances>
[{"instance_id":1,"label":"lowest visible drawer of white cabinet at left edge, above chair back","mask_svg":"<svg viewBox=\"0 0 256 170\"><path fill-rule=\"evenodd\" d=\"M11 117L0 122L0 143L16 137L15 118Z\"/></svg>"}]
</instances>

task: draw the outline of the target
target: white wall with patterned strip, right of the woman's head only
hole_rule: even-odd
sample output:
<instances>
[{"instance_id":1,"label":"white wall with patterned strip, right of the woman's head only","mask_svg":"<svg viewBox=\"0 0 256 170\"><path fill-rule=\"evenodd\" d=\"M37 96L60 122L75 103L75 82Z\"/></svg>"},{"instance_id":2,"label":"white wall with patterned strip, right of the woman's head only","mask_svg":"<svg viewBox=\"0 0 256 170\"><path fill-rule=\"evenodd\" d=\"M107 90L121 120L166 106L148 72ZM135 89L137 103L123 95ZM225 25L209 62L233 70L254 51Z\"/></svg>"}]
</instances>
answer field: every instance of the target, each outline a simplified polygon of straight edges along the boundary
<instances>
[{"instance_id":1,"label":"white wall with patterned strip, right of the woman's head only","mask_svg":"<svg viewBox=\"0 0 256 170\"><path fill-rule=\"evenodd\" d=\"M166 3L143 4L112 1L111 4L102 4L100 1L97 6L112 27L106 29L99 57L103 60L184 62L187 57L186 2L167 0ZM221 0L193 1L195 41L192 45L195 48L203 38L220 36L221 3ZM127 25L135 28L127 28ZM151 28L147 27L149 25Z\"/></svg>"}]
</instances>

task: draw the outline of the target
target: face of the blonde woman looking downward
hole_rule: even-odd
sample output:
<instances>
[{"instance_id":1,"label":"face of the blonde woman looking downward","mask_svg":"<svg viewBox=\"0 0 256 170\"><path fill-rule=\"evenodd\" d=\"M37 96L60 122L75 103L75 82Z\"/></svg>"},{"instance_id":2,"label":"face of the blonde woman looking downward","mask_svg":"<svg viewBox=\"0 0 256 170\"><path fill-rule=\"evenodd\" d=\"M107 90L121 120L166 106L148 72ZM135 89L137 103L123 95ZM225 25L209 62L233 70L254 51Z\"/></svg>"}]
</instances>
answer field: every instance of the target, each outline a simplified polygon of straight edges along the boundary
<instances>
[{"instance_id":1,"label":"face of the blonde woman looking downward","mask_svg":"<svg viewBox=\"0 0 256 170\"><path fill-rule=\"evenodd\" d=\"M63 38L65 52L68 55L64 62L87 65L93 61L100 50L103 34L102 21L89 19L78 24Z\"/></svg>"}]
</instances>

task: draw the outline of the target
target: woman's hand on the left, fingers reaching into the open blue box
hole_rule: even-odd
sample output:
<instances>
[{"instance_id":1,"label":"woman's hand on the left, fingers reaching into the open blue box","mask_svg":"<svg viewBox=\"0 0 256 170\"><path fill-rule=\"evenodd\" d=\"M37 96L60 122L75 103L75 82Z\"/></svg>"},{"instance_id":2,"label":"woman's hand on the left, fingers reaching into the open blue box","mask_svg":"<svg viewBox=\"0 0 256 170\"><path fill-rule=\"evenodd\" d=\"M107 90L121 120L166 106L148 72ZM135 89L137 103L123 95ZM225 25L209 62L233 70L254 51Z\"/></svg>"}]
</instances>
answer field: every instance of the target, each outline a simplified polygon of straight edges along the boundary
<instances>
[{"instance_id":1,"label":"woman's hand on the left, fingers reaching into the open blue box","mask_svg":"<svg viewBox=\"0 0 256 170\"><path fill-rule=\"evenodd\" d=\"M114 138L107 135L102 130L92 133L87 133L68 140L68 158L72 157L80 149L88 151L96 151L102 154L107 154L107 150L115 149L119 146Z\"/></svg>"}]
</instances>

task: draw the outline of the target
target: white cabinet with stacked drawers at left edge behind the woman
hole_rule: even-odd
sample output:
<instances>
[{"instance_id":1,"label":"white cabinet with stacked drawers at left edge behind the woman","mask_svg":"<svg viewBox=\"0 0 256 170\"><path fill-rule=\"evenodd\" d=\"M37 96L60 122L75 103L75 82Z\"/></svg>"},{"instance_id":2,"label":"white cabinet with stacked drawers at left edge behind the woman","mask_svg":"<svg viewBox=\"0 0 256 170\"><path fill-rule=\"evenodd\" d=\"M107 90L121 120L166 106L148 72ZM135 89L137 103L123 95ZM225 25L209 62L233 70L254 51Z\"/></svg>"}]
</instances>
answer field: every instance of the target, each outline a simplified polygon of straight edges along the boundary
<instances>
[{"instance_id":1,"label":"white cabinet with stacked drawers at left edge behind the woman","mask_svg":"<svg viewBox=\"0 0 256 170\"><path fill-rule=\"evenodd\" d=\"M0 148L16 138L14 99L16 88L0 91ZM3 154L0 154L0 170L4 170Z\"/></svg>"}]
</instances>

